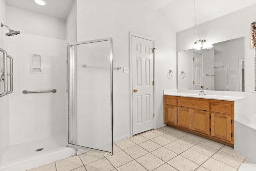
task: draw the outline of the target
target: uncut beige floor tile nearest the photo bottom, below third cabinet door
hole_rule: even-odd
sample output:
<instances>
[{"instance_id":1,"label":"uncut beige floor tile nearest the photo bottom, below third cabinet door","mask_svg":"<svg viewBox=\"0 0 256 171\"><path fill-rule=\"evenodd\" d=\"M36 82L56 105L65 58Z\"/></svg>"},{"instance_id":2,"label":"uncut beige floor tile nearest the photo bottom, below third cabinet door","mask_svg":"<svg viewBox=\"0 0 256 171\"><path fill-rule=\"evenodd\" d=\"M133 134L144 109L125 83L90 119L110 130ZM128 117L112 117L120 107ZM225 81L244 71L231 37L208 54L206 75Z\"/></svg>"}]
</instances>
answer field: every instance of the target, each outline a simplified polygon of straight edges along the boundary
<instances>
[{"instance_id":1,"label":"uncut beige floor tile nearest the photo bottom, below third cabinet door","mask_svg":"<svg viewBox=\"0 0 256 171\"><path fill-rule=\"evenodd\" d=\"M199 153L197 151L194 151L192 149L188 149L188 150L184 151L183 153L181 153L180 155L185 157L186 159L194 161L198 165L201 165L207 159L209 159L209 156Z\"/></svg>"}]
</instances>

